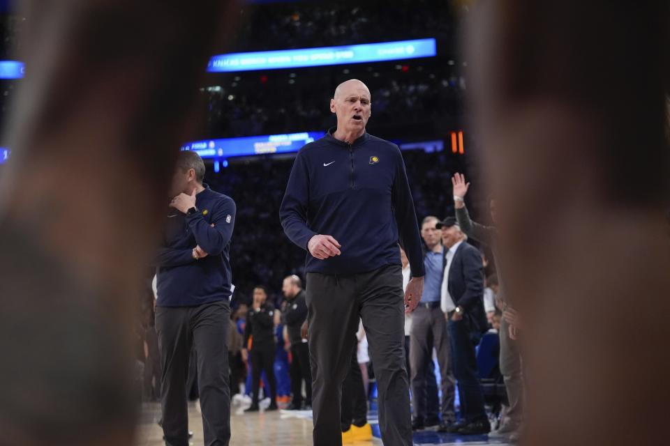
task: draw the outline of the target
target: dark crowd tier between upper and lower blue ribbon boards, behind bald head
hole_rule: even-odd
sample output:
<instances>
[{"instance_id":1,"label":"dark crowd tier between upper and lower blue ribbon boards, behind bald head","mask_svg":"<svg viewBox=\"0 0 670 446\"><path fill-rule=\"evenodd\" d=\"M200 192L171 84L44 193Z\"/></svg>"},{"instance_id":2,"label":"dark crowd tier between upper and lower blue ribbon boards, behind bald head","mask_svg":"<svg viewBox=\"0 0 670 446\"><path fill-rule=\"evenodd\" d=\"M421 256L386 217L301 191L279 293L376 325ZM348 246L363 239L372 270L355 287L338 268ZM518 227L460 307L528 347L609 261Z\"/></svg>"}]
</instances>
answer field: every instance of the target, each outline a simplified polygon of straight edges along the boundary
<instances>
[{"instance_id":1,"label":"dark crowd tier between upper and lower blue ribbon boards, behind bald head","mask_svg":"<svg viewBox=\"0 0 670 446\"><path fill-rule=\"evenodd\" d=\"M241 74L230 83L203 89L207 136L325 130L334 125L329 110L334 85L350 77L364 80L371 89L374 114L369 124L371 132L395 129L408 137L458 127L463 114L463 78L449 66L440 68L417 62L399 67L387 66L382 72L374 71L378 67L360 68L346 73L336 68L313 69L315 76L302 71L260 77Z\"/></svg>"}]
</instances>

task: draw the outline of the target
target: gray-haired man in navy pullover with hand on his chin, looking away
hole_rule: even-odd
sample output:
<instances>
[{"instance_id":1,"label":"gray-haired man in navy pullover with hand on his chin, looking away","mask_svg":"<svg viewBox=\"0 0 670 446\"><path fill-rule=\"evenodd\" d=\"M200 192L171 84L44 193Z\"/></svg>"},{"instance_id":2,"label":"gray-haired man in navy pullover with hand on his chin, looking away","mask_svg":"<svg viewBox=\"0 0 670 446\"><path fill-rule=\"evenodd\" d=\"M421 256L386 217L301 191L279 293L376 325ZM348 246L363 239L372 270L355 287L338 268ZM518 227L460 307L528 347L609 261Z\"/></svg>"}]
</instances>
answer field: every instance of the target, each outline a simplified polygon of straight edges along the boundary
<instances>
[{"instance_id":1,"label":"gray-haired man in navy pullover with hand on his chin, looking away","mask_svg":"<svg viewBox=\"0 0 670 446\"><path fill-rule=\"evenodd\" d=\"M198 358L204 444L230 442L226 336L236 208L230 197L204 185L203 178L200 156L180 152L165 234L156 255L161 406L165 442L170 446L188 445L186 372L191 346Z\"/></svg>"}]
</instances>

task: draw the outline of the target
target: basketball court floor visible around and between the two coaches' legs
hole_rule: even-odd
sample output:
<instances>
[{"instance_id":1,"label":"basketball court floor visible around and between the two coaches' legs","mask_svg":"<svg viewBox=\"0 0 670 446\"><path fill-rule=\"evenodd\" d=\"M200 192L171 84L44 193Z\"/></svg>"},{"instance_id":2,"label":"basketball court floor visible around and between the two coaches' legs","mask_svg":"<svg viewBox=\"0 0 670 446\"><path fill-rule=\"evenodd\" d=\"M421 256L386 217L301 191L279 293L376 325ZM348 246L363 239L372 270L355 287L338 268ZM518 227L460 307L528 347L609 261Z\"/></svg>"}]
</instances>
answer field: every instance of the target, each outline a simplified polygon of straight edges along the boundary
<instances>
[{"instance_id":1,"label":"basketball court floor visible around and between the two coaches' legs","mask_svg":"<svg viewBox=\"0 0 670 446\"><path fill-rule=\"evenodd\" d=\"M244 414L244 406L232 408L230 424L232 427L233 446L311 446L312 417L311 411L278 410L268 413ZM195 403L188 410L188 425L193 431L191 445L201 446L202 418ZM161 418L161 407L158 403L147 403L142 408L137 446L163 446L163 431L157 422ZM375 438L367 442L347 443L354 446L381 446L377 415L371 411L368 420L373 428ZM487 436L457 436L422 431L414 435L415 445L509 445L505 440L489 439Z\"/></svg>"}]
</instances>

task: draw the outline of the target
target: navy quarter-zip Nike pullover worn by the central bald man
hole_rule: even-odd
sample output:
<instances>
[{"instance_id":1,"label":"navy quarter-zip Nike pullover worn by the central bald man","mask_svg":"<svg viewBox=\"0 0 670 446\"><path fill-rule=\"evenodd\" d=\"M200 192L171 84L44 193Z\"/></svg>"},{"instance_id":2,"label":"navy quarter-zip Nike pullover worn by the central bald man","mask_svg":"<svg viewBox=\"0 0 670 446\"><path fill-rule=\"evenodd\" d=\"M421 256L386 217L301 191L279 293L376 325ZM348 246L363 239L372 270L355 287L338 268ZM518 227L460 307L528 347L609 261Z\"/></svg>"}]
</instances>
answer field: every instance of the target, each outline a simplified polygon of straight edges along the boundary
<instances>
[{"instance_id":1,"label":"navy quarter-zip Nike pullover worn by the central bald man","mask_svg":"<svg viewBox=\"0 0 670 446\"><path fill-rule=\"evenodd\" d=\"M288 238L307 249L317 234L333 236L339 256L307 253L307 272L356 274L400 265L398 243L412 276L424 275L419 226L405 163L395 144L363 134L353 144L335 129L299 151L279 216Z\"/></svg>"}]
</instances>

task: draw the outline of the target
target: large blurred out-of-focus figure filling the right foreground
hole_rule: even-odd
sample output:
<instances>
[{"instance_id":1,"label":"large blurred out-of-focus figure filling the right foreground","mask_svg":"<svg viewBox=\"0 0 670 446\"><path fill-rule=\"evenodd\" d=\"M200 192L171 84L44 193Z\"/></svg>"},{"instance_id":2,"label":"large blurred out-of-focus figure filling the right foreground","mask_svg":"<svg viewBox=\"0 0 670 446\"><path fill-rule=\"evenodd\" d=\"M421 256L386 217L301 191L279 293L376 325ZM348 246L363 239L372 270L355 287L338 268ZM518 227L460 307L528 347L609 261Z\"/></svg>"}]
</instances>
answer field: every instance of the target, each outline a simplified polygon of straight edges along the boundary
<instances>
[{"instance_id":1,"label":"large blurred out-of-focus figure filling the right foreground","mask_svg":"<svg viewBox=\"0 0 670 446\"><path fill-rule=\"evenodd\" d=\"M472 105L526 331L522 443L667 443L669 3L476 9Z\"/></svg>"}]
</instances>

